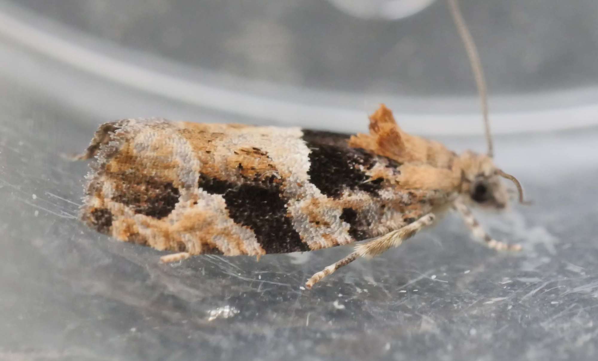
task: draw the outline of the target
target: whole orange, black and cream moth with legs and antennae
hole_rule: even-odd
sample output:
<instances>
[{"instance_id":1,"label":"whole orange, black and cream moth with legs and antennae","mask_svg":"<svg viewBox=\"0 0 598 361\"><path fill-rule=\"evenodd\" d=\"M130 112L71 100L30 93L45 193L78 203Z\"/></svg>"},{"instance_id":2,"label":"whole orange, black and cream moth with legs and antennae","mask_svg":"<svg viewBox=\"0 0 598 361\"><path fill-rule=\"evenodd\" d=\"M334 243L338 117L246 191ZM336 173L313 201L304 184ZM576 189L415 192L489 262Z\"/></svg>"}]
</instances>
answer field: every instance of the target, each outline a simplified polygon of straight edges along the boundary
<instances>
[{"instance_id":1,"label":"whole orange, black and cream moth with legs and antennae","mask_svg":"<svg viewBox=\"0 0 598 361\"><path fill-rule=\"evenodd\" d=\"M470 54L468 31L456 22ZM369 133L355 135L114 121L102 124L78 156L94 158L81 218L118 240L171 252L163 262L206 253L259 258L367 240L314 274L307 288L359 257L399 246L450 209L488 246L518 250L490 237L469 211L504 209L504 178L523 202L518 180L493 163L486 130L488 154L456 154L403 131L384 105L370 116Z\"/></svg>"}]
</instances>

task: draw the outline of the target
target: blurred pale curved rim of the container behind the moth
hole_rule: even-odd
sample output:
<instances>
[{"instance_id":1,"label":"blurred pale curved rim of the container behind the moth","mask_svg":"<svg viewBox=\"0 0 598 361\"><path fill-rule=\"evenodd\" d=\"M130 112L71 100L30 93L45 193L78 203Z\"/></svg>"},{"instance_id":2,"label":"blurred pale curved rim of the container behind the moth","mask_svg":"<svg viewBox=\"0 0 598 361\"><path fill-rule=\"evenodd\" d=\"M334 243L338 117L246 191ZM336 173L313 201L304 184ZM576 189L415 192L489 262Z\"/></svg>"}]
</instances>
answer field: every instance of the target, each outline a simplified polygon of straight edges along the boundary
<instances>
[{"instance_id":1,"label":"blurred pale curved rim of the container behind the moth","mask_svg":"<svg viewBox=\"0 0 598 361\"><path fill-rule=\"evenodd\" d=\"M5 39L79 71L186 105L266 123L315 128L330 125L331 130L355 131L364 128L364 115L384 102L410 131L478 134L481 130L477 97L398 97L310 90L215 74L153 54L150 68L132 61L136 56L147 59L148 54L114 44L108 47L99 39L49 23L51 26L44 27L47 19L2 2L0 36ZM598 103L592 103L592 99L597 96L596 87L491 95L492 129L494 133L520 133L594 126L598 124Z\"/></svg>"}]
</instances>

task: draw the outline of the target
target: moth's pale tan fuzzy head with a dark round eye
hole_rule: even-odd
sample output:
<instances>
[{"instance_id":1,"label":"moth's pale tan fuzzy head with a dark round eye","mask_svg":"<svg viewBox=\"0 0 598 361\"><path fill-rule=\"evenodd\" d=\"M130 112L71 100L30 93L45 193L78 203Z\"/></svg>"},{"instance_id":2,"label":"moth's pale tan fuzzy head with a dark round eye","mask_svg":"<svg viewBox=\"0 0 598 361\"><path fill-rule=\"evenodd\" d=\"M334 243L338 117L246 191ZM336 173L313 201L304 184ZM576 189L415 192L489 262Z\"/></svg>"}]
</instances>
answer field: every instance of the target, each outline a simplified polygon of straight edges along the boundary
<instances>
[{"instance_id":1,"label":"moth's pale tan fuzzy head with a dark round eye","mask_svg":"<svg viewBox=\"0 0 598 361\"><path fill-rule=\"evenodd\" d=\"M511 180L517 188L519 202L523 200L521 183L512 175L495 166L488 155L465 152L461 157L461 198L466 203L477 206L504 209L509 202L509 189L504 179Z\"/></svg>"}]
</instances>

